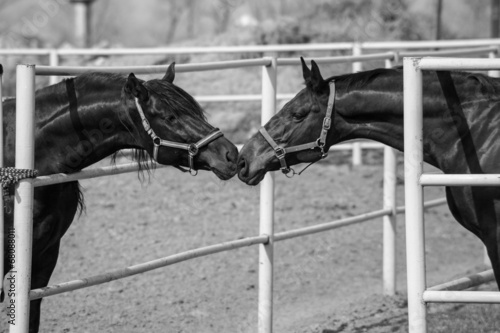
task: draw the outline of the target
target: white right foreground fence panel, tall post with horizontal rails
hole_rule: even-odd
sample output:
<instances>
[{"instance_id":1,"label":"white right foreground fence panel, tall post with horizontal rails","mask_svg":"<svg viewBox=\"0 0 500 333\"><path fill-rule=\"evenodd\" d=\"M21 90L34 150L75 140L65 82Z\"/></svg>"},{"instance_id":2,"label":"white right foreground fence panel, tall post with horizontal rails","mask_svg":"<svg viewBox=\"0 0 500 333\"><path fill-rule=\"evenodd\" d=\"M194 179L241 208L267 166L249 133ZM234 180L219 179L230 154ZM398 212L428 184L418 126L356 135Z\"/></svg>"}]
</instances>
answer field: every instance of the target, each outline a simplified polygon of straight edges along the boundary
<instances>
[{"instance_id":1,"label":"white right foreground fence panel, tall post with horizontal rails","mask_svg":"<svg viewBox=\"0 0 500 333\"><path fill-rule=\"evenodd\" d=\"M424 186L500 186L500 174L431 174L423 171L423 70L497 70L500 59L404 59L404 163L409 332L427 332L426 304L500 303L500 292L464 291L494 279L492 271L426 288Z\"/></svg>"}]
</instances>

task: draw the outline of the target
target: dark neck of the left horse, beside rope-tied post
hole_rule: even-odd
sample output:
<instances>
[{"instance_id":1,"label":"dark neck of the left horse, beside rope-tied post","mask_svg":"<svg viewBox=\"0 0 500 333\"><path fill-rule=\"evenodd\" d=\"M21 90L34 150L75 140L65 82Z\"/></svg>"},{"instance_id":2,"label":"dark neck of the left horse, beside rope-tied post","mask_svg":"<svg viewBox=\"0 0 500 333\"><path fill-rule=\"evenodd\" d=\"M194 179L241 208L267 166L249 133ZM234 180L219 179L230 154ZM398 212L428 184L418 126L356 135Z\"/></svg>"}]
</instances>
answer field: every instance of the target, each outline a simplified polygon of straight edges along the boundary
<instances>
[{"instance_id":1,"label":"dark neck of the left horse, beside rope-tied post","mask_svg":"<svg viewBox=\"0 0 500 333\"><path fill-rule=\"evenodd\" d=\"M81 127L71 118L64 83L54 92L61 97L59 105L50 102L56 100L54 93L37 96L35 161L41 172L75 172L120 149L141 148L130 126L124 124L130 121L124 117L128 110L121 99L122 84L109 82L105 88L102 84L91 88L86 83L82 88L75 83Z\"/></svg>"}]
</instances>

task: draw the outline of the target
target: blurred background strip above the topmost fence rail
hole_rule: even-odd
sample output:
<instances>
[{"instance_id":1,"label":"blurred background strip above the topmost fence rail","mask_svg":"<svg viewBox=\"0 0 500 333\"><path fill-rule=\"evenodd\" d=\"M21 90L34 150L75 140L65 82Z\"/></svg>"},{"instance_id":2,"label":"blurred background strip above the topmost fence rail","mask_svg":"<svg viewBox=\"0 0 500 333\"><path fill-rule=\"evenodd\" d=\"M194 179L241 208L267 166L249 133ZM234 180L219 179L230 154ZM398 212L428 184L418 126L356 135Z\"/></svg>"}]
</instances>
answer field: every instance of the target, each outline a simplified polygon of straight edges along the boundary
<instances>
[{"instance_id":1,"label":"blurred background strip above the topmost fence rail","mask_svg":"<svg viewBox=\"0 0 500 333\"><path fill-rule=\"evenodd\" d=\"M490 16L496 2L2 0L0 45L156 47L485 38L492 33ZM85 45L75 39L78 3L88 3L91 12Z\"/></svg>"}]
</instances>

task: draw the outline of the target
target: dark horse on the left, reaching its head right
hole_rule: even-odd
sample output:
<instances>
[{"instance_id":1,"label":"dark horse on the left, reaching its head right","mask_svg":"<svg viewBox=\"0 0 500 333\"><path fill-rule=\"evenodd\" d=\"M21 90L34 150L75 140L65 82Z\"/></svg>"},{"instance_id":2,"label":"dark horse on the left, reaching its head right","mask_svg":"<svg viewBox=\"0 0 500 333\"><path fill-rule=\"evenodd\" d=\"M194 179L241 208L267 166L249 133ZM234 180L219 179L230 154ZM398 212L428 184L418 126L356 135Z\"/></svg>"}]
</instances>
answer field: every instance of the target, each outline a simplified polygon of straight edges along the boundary
<instances>
[{"instance_id":1,"label":"dark horse on the left, reaching its head right","mask_svg":"<svg viewBox=\"0 0 500 333\"><path fill-rule=\"evenodd\" d=\"M163 146L164 142L197 143L214 133L200 105L172 83L174 76L172 64L161 80L145 82L134 74L127 78L89 73L38 90L35 168L39 175L76 172L120 149L131 148L142 167L150 165L147 152L151 158L157 155L155 159L161 164L211 170L223 180L234 176L238 150L220 132L193 154L193 165L187 150ZM6 166L14 166L15 111L15 100L4 102ZM148 132L143 127L140 113L152 131L147 125ZM155 140L152 134L157 135ZM153 141L161 141L157 151ZM61 237L83 205L78 182L37 187L34 197L32 289L47 286ZM12 196L7 198L7 208L12 207L12 200ZM7 229L13 223L11 212L7 209L5 213ZM31 302L30 332L38 331L40 304L41 300Z\"/></svg>"}]
</instances>

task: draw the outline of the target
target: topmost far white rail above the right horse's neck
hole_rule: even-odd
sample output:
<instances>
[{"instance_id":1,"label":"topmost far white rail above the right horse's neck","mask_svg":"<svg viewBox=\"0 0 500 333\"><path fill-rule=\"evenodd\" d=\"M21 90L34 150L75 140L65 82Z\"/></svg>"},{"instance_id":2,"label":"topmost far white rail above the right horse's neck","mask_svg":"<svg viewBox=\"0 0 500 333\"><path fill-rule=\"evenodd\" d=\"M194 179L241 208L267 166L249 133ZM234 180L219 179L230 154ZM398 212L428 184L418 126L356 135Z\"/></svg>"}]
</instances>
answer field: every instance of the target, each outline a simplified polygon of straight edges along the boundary
<instances>
[{"instance_id":1,"label":"topmost far white rail above the right horse's neck","mask_svg":"<svg viewBox=\"0 0 500 333\"><path fill-rule=\"evenodd\" d=\"M393 41L393 42L362 42L363 49L435 49L500 45L498 38L485 39L454 39L436 41Z\"/></svg>"}]
</instances>

